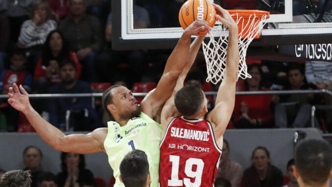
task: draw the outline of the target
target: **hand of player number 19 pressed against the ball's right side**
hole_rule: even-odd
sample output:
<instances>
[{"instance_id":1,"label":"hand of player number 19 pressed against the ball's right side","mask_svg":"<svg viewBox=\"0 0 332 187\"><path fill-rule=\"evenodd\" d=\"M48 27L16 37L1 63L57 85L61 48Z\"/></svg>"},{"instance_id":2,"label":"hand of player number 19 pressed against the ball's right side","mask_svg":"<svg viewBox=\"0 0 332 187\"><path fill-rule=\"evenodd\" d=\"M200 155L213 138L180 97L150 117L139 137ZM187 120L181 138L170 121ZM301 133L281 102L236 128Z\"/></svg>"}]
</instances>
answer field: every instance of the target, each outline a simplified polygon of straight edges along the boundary
<instances>
[{"instance_id":1,"label":"hand of player number 19 pressed against the ball's right side","mask_svg":"<svg viewBox=\"0 0 332 187\"><path fill-rule=\"evenodd\" d=\"M236 31L237 32L237 23L235 23L234 19L230 15L230 13L221 8L221 6L212 3L214 9L215 9L215 18L218 19L224 26L226 26L230 31Z\"/></svg>"}]
</instances>

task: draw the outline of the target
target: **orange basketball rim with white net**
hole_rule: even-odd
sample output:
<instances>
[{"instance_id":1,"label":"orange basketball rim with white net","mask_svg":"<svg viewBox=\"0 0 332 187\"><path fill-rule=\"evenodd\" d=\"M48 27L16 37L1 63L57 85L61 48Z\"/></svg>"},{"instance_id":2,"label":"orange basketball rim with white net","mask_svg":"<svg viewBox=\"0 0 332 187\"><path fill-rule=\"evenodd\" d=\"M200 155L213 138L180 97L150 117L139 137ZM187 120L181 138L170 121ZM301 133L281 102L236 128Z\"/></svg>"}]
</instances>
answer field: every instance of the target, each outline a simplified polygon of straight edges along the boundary
<instances>
[{"instance_id":1,"label":"orange basketball rim with white net","mask_svg":"<svg viewBox=\"0 0 332 187\"><path fill-rule=\"evenodd\" d=\"M270 13L260 10L228 10L238 27L239 69L237 79L251 78L247 73L245 56L249 44L254 38L260 38L259 32L263 27L263 21L269 18ZM216 84L223 80L226 67L228 35L223 25L210 35L208 43L203 42L203 52L206 61L208 78L206 81ZM216 35L218 36L218 39ZM222 37L225 36L225 37Z\"/></svg>"}]
</instances>

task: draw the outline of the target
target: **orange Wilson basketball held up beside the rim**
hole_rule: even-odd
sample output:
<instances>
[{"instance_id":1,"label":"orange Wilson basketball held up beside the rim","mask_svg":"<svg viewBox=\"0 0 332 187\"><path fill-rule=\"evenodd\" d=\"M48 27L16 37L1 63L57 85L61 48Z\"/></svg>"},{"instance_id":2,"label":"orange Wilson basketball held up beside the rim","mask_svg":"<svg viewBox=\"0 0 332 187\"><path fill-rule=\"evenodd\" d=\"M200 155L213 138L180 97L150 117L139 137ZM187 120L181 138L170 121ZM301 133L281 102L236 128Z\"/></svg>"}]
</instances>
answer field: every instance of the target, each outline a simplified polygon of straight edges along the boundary
<instances>
[{"instance_id":1,"label":"orange Wilson basketball held up beside the rim","mask_svg":"<svg viewBox=\"0 0 332 187\"><path fill-rule=\"evenodd\" d=\"M209 0L187 0L179 12L179 22L186 29L195 20L205 20L210 27L215 24L215 10ZM199 32L198 35L204 34Z\"/></svg>"}]
</instances>

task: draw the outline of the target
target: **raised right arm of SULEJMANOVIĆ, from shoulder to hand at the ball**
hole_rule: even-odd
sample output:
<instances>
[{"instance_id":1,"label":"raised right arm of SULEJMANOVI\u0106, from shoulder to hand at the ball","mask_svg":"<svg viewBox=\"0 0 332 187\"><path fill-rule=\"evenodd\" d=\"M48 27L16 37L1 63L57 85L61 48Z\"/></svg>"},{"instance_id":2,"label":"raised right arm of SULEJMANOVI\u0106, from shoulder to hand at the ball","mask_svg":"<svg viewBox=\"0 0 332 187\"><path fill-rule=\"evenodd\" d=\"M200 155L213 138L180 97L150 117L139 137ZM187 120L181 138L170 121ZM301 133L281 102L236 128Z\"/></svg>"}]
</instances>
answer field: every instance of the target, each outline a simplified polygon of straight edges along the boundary
<instances>
[{"instance_id":1,"label":"raised right arm of SULEJMANOVI\u0106, from shoulder to hand at the ball","mask_svg":"<svg viewBox=\"0 0 332 187\"><path fill-rule=\"evenodd\" d=\"M216 18L229 29L226 72L217 92L215 107L209 113L207 119L215 125L214 134L221 136L227 127L235 104L235 91L239 61L237 24L229 12L219 5L213 4L216 10Z\"/></svg>"}]
</instances>

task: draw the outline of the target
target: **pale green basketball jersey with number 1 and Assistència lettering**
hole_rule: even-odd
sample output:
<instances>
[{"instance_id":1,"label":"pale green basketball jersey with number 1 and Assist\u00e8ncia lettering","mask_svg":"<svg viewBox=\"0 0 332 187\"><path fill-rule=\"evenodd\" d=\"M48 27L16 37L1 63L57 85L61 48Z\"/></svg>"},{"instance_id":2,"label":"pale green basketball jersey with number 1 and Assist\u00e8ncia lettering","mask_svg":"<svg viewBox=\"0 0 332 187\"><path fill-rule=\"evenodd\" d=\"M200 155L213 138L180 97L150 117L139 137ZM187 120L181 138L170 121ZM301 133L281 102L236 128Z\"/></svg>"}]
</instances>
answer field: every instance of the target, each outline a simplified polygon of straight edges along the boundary
<instances>
[{"instance_id":1,"label":"pale green basketball jersey with number 1 and Assist\u00e8ncia lettering","mask_svg":"<svg viewBox=\"0 0 332 187\"><path fill-rule=\"evenodd\" d=\"M107 125L108 133L104 141L104 147L116 179L114 187L124 187L119 180L120 162L127 153L134 149L142 150L147 155L152 179L151 187L158 187L161 124L141 112L138 117L130 119L123 127L114 121L109 121Z\"/></svg>"}]
</instances>

